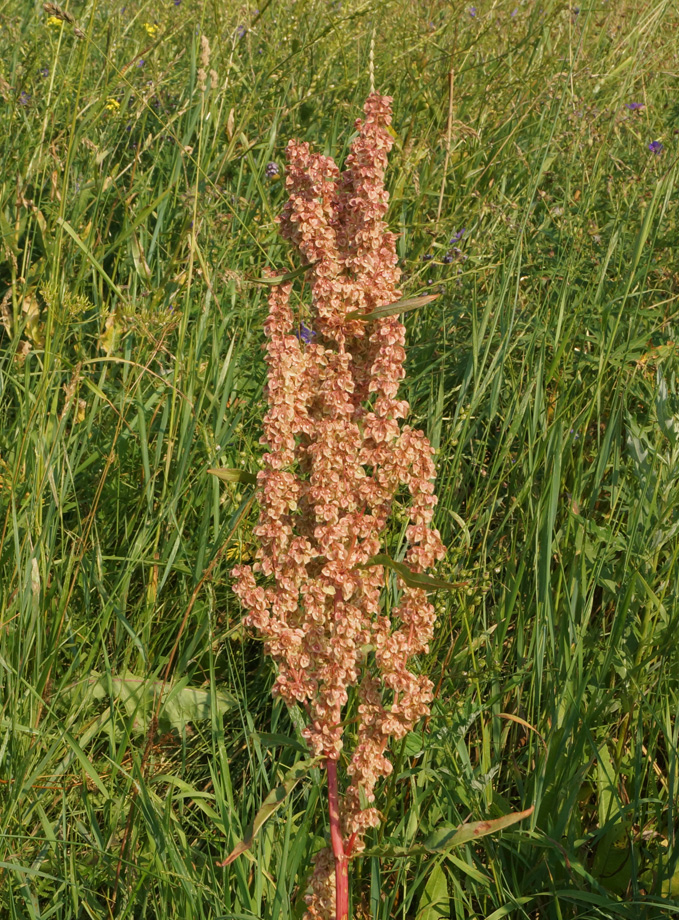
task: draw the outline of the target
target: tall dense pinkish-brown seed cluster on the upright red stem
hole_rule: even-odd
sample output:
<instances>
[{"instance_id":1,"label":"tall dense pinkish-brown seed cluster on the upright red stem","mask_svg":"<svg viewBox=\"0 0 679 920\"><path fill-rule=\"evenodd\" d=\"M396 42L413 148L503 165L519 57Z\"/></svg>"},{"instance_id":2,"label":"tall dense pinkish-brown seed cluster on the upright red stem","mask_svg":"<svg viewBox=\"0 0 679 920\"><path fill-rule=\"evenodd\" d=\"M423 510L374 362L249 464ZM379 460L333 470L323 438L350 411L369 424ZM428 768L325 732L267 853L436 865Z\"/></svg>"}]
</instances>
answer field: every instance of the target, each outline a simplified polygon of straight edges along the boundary
<instances>
[{"instance_id":1,"label":"tall dense pinkish-brown seed cluster on the upright red stem","mask_svg":"<svg viewBox=\"0 0 679 920\"><path fill-rule=\"evenodd\" d=\"M280 223L312 265L313 336L306 326L306 335L296 332L292 285L273 287L265 326L268 453L258 475L259 548L252 567L233 573L247 623L278 665L274 692L305 707L308 745L333 769L348 688L357 687L356 741L340 818L347 857L380 821L374 790L392 770L389 738L403 738L431 700L431 682L409 663L428 650L434 608L425 591L404 587L387 616L380 605L384 570L365 567L381 552L400 487L410 493L405 563L421 572L444 555L431 526L433 450L402 421L409 406L397 398L404 326L397 316L347 319L400 296L395 236L384 221L390 103L377 94L368 98L341 175L308 144L288 145L290 197ZM308 920L335 916L332 876L326 849L316 857Z\"/></svg>"}]
</instances>

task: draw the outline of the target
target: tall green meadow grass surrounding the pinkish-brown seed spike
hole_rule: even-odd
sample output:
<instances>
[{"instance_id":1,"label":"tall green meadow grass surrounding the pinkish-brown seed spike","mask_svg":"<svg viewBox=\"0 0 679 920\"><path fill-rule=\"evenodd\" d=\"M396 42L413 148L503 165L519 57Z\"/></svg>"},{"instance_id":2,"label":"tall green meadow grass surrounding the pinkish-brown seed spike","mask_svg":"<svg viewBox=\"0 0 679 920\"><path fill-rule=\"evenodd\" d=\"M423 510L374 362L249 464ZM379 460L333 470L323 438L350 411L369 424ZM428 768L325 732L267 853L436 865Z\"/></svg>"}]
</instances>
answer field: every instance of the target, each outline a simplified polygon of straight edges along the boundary
<instances>
[{"instance_id":1,"label":"tall green meadow grass surrounding the pinkish-brown seed spike","mask_svg":"<svg viewBox=\"0 0 679 920\"><path fill-rule=\"evenodd\" d=\"M69 12L0 13L0 916L303 912L321 771L218 866L305 751L231 593L252 487L207 470L263 450L266 166L341 162L371 77L459 588L353 915L679 913L676 5Z\"/></svg>"}]
</instances>

